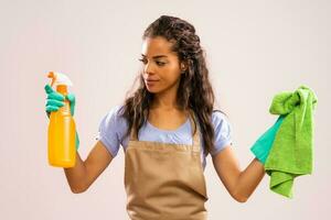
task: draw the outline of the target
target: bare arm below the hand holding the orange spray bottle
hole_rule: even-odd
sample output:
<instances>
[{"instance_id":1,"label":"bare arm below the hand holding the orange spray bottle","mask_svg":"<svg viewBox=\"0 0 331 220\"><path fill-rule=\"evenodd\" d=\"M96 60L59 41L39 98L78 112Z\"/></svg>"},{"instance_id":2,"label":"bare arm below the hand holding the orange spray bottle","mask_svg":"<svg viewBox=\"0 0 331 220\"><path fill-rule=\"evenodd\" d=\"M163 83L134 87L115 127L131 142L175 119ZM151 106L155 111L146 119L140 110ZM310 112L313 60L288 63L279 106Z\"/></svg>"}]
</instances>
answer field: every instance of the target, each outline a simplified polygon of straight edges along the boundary
<instances>
[{"instance_id":1,"label":"bare arm below the hand holding the orange spray bottle","mask_svg":"<svg viewBox=\"0 0 331 220\"><path fill-rule=\"evenodd\" d=\"M89 152L86 161L82 161L76 152L76 164L74 167L64 168L64 173L71 190L79 194L88 189L95 179L106 169L113 160L106 146L98 141Z\"/></svg>"}]
</instances>

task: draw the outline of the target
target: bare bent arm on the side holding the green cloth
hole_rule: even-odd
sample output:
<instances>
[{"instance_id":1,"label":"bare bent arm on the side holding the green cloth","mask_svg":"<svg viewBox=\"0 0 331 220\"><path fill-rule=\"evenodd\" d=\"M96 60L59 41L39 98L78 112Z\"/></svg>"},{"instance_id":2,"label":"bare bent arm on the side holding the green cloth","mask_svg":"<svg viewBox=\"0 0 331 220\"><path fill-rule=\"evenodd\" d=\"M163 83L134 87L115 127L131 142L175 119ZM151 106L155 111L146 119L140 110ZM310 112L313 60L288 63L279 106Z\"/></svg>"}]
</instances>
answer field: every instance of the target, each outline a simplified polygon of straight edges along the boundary
<instances>
[{"instance_id":1,"label":"bare bent arm on the side holding the green cloth","mask_svg":"<svg viewBox=\"0 0 331 220\"><path fill-rule=\"evenodd\" d=\"M229 195L239 202L245 202L265 175L264 165L254 158L241 170L231 146L226 146L213 156L214 168Z\"/></svg>"}]
</instances>

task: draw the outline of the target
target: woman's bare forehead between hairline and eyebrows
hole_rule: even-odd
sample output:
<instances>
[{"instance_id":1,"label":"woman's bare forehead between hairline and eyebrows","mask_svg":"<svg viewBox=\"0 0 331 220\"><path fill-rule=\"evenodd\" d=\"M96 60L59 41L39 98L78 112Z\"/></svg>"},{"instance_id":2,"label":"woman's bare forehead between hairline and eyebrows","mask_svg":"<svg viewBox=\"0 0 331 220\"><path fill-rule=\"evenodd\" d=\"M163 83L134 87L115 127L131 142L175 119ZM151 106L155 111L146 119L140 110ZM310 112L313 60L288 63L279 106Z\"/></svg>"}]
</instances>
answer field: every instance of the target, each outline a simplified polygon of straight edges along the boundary
<instances>
[{"instance_id":1,"label":"woman's bare forehead between hairline and eyebrows","mask_svg":"<svg viewBox=\"0 0 331 220\"><path fill-rule=\"evenodd\" d=\"M175 55L171 51L172 43L162 36L146 37L142 42L141 54L152 57L154 55Z\"/></svg>"}]
</instances>

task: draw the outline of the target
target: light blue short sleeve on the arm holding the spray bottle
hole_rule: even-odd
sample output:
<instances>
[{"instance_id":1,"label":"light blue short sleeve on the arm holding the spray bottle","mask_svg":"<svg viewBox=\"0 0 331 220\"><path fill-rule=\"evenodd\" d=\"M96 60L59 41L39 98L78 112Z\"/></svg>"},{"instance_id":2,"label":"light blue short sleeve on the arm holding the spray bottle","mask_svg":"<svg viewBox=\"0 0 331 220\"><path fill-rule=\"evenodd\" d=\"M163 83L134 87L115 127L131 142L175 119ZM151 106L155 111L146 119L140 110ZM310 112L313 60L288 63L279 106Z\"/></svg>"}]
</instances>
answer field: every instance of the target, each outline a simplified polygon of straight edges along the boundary
<instances>
[{"instance_id":1,"label":"light blue short sleeve on the arm holding the spray bottle","mask_svg":"<svg viewBox=\"0 0 331 220\"><path fill-rule=\"evenodd\" d=\"M120 106L116 106L102 119L96 138L96 140L103 142L113 157L118 153L124 130L126 129L125 119L119 116L119 110Z\"/></svg>"}]
</instances>

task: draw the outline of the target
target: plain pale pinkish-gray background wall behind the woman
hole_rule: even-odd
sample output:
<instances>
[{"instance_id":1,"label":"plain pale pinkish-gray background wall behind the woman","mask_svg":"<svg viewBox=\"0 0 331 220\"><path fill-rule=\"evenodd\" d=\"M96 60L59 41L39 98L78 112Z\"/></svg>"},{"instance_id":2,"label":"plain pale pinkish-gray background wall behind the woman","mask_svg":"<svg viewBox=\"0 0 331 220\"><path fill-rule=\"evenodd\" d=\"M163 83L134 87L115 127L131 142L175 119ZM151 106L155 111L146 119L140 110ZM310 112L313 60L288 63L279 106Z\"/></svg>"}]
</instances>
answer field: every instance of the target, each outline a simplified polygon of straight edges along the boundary
<instances>
[{"instance_id":1,"label":"plain pale pinkish-gray background wall behind the woman","mask_svg":"<svg viewBox=\"0 0 331 220\"><path fill-rule=\"evenodd\" d=\"M73 80L85 160L99 121L132 85L143 30L161 14L196 28L242 168L276 119L268 112L275 94L305 84L319 99L313 174L296 179L293 199L271 193L265 176L238 204L209 157L210 219L330 219L330 11L328 0L1 0L0 219L127 219L122 151L79 195L71 193L63 169L49 166L43 87L49 70Z\"/></svg>"}]
</instances>

